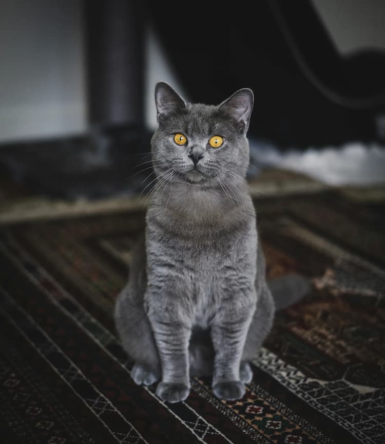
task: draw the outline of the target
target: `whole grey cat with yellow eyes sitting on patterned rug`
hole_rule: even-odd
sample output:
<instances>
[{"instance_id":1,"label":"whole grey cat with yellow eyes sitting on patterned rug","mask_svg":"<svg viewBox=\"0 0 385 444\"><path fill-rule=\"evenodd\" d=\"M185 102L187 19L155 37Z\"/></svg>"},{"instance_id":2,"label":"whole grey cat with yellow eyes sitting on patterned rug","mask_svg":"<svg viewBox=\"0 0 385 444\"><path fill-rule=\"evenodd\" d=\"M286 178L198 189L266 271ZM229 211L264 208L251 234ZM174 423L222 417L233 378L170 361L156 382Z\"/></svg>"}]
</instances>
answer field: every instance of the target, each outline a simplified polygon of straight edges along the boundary
<instances>
[{"instance_id":1,"label":"whole grey cat with yellow eyes sitting on patterned rug","mask_svg":"<svg viewBox=\"0 0 385 444\"><path fill-rule=\"evenodd\" d=\"M212 375L218 398L239 399L277 304L305 291L299 276L288 276L269 283L274 300L265 280L245 181L253 92L240 89L218 106L191 104L159 82L155 102L158 183L115 324L134 360L133 380L160 380L162 400L186 399L191 375Z\"/></svg>"}]
</instances>

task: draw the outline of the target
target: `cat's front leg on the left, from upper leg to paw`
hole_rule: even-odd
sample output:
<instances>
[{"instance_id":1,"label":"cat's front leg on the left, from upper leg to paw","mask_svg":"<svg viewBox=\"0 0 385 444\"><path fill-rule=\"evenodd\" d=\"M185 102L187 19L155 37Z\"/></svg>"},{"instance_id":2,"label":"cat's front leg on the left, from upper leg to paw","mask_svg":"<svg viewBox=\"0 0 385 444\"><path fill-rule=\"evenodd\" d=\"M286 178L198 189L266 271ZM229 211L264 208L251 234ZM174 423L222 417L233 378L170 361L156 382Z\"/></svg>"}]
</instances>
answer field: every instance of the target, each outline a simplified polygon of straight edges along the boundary
<instances>
[{"instance_id":1,"label":"cat's front leg on the left, from upper leg to paw","mask_svg":"<svg viewBox=\"0 0 385 444\"><path fill-rule=\"evenodd\" d=\"M191 320L180 303L180 294L175 294L175 288L171 291L171 285L167 287L161 295L147 295L146 300L162 363L162 381L158 384L157 395L164 401L179 402L190 392L188 343Z\"/></svg>"}]
</instances>

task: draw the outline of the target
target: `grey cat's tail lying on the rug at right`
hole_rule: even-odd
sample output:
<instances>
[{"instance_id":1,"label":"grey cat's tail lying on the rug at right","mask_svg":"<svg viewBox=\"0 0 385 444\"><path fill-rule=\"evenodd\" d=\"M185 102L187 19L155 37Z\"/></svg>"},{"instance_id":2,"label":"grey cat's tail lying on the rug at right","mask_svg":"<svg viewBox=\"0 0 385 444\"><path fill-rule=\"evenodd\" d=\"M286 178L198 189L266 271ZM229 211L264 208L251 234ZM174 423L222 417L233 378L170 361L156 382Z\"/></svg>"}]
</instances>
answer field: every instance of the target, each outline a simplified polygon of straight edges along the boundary
<instances>
[{"instance_id":1,"label":"grey cat's tail lying on the rug at right","mask_svg":"<svg viewBox=\"0 0 385 444\"><path fill-rule=\"evenodd\" d=\"M285 274L267 281L273 294L276 310L282 310L300 301L311 287L310 279L297 273Z\"/></svg>"}]
</instances>

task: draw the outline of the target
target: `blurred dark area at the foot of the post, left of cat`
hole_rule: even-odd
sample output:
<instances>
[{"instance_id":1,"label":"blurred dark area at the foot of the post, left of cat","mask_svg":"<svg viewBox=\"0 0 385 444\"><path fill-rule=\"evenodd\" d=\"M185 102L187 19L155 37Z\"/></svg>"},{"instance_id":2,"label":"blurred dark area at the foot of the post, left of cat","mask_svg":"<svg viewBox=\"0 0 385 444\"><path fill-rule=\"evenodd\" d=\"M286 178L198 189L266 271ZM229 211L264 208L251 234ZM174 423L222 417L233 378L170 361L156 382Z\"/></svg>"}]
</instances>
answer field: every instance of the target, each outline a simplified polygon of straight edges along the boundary
<instances>
[{"instance_id":1,"label":"blurred dark area at the foot of the post, left of cat","mask_svg":"<svg viewBox=\"0 0 385 444\"><path fill-rule=\"evenodd\" d=\"M7 144L0 146L0 174L53 198L130 194L151 172L142 171L149 165L143 162L150 160L150 137L127 131Z\"/></svg>"}]
</instances>

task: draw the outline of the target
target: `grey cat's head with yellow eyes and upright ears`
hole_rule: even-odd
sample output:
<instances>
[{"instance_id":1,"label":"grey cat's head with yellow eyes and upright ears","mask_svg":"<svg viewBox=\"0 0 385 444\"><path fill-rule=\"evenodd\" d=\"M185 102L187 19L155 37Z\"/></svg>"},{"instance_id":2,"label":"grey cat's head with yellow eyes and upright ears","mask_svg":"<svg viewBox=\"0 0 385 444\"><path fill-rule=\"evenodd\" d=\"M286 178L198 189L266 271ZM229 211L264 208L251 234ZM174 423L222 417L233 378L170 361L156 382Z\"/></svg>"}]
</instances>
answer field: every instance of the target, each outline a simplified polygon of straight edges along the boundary
<instances>
[{"instance_id":1,"label":"grey cat's head with yellow eyes and upright ears","mask_svg":"<svg viewBox=\"0 0 385 444\"><path fill-rule=\"evenodd\" d=\"M221 186L244 179L249 163L246 132L253 109L243 88L219 105L186 103L167 83L155 88L158 129L151 139L159 177L172 182Z\"/></svg>"}]
</instances>

